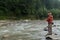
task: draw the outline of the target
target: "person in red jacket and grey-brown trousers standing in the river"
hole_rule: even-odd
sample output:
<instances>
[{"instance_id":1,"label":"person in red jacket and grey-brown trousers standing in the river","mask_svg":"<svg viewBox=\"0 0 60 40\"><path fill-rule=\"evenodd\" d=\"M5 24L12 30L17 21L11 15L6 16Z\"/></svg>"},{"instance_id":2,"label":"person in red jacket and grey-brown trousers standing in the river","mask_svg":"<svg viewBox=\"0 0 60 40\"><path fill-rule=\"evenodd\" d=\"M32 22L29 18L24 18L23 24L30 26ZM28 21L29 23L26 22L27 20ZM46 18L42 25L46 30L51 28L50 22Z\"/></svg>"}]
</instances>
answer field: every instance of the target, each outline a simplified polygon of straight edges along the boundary
<instances>
[{"instance_id":1,"label":"person in red jacket and grey-brown trousers standing in the river","mask_svg":"<svg viewBox=\"0 0 60 40\"><path fill-rule=\"evenodd\" d=\"M48 12L47 22L48 22L48 34L47 35L52 35L53 15L51 12Z\"/></svg>"}]
</instances>

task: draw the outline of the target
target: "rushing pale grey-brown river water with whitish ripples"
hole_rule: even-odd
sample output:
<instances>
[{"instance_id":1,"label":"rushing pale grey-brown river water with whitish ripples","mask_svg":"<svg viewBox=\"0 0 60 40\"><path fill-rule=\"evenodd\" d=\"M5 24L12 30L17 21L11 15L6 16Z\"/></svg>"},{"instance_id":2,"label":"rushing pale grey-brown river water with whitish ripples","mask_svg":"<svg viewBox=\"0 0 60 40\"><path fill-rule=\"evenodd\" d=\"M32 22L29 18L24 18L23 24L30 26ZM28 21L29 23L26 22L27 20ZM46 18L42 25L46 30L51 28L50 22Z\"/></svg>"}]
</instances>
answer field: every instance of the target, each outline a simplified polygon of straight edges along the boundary
<instances>
[{"instance_id":1,"label":"rushing pale grey-brown river water with whitish ripples","mask_svg":"<svg viewBox=\"0 0 60 40\"><path fill-rule=\"evenodd\" d=\"M54 21L53 32L60 35L60 20ZM0 21L0 40L46 40L46 21Z\"/></svg>"}]
</instances>

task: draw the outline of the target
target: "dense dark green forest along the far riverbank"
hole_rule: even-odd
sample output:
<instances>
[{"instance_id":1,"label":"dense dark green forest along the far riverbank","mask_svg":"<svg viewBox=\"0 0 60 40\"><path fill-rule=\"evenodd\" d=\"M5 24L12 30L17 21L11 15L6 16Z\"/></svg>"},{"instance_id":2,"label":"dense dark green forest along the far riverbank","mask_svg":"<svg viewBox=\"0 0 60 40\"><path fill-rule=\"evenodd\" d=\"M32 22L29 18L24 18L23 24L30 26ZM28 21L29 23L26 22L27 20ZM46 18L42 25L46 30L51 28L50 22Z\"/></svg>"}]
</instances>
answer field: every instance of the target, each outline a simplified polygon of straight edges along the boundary
<instances>
[{"instance_id":1,"label":"dense dark green forest along the far riverbank","mask_svg":"<svg viewBox=\"0 0 60 40\"><path fill-rule=\"evenodd\" d=\"M60 19L60 0L0 0L0 19Z\"/></svg>"}]
</instances>

